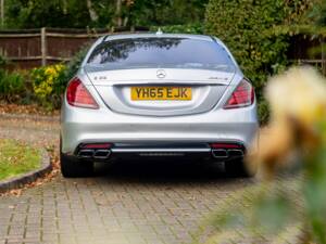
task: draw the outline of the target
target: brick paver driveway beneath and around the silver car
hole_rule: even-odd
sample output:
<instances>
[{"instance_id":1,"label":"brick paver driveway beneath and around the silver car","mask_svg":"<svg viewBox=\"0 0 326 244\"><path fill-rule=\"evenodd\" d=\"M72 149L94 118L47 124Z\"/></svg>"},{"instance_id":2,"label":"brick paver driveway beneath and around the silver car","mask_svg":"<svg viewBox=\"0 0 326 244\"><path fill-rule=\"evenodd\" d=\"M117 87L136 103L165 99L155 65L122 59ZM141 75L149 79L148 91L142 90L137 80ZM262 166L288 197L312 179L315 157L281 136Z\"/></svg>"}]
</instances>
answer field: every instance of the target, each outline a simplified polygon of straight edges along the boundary
<instances>
[{"instance_id":1,"label":"brick paver driveway beneath and around the silver car","mask_svg":"<svg viewBox=\"0 0 326 244\"><path fill-rule=\"evenodd\" d=\"M0 117L0 137L58 144L58 121ZM123 162L0 198L0 243L191 243L202 219L252 184L221 166Z\"/></svg>"}]
</instances>

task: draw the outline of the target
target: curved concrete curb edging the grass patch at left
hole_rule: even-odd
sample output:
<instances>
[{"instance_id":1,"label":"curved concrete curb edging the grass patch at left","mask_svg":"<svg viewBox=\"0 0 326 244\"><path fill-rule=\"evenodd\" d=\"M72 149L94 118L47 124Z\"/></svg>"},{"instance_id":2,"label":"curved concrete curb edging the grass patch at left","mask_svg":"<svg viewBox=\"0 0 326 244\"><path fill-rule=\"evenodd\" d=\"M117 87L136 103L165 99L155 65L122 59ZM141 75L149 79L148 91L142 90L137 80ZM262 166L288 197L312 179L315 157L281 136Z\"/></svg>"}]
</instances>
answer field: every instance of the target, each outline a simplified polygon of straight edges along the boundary
<instances>
[{"instance_id":1,"label":"curved concrete curb edging the grass patch at left","mask_svg":"<svg viewBox=\"0 0 326 244\"><path fill-rule=\"evenodd\" d=\"M0 193L8 192L13 189L20 189L25 184L34 182L37 178L45 176L52 170L52 165L48 152L41 150L41 167L9 180L0 181Z\"/></svg>"}]
</instances>

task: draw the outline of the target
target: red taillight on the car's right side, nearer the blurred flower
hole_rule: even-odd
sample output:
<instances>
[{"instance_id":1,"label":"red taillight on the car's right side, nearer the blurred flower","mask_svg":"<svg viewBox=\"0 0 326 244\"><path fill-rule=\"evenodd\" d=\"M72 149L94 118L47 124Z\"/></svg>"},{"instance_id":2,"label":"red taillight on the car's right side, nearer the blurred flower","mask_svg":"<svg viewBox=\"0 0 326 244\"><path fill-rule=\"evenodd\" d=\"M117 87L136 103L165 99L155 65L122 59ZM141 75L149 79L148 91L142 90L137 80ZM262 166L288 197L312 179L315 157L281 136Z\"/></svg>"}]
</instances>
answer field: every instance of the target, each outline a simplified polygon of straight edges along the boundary
<instances>
[{"instance_id":1,"label":"red taillight on the car's right side, nearer the blurred flower","mask_svg":"<svg viewBox=\"0 0 326 244\"><path fill-rule=\"evenodd\" d=\"M254 90L252 85L242 79L237 89L234 91L231 97L228 99L224 108L238 108L243 106L250 106L254 102Z\"/></svg>"}]
</instances>

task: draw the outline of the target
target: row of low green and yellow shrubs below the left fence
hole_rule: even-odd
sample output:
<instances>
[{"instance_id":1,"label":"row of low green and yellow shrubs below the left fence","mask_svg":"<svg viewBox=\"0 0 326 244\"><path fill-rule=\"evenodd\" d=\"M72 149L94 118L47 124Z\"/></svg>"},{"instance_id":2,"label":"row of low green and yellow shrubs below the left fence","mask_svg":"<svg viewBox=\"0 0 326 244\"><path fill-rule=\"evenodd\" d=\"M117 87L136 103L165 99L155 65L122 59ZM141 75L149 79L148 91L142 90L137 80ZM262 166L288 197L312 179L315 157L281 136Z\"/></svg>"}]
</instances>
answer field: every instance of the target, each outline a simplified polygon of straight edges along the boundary
<instances>
[{"instance_id":1,"label":"row of low green and yellow shrubs below the left fence","mask_svg":"<svg viewBox=\"0 0 326 244\"><path fill-rule=\"evenodd\" d=\"M0 100L8 103L37 103L47 111L60 108L67 82L77 73L89 46L85 46L67 65L55 64L32 70L7 72L0 57ZM3 62L3 64L2 64Z\"/></svg>"}]
</instances>

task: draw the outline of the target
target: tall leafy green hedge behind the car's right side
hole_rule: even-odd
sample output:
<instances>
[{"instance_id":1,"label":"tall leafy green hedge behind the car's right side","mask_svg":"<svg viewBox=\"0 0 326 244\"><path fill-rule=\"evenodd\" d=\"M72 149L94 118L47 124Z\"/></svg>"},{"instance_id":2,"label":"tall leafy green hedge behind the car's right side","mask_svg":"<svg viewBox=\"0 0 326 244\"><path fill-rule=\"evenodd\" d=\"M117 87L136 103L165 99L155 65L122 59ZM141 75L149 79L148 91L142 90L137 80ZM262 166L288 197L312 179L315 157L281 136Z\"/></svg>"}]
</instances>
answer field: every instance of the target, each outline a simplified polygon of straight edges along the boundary
<instances>
[{"instance_id":1,"label":"tall leafy green hedge behind the car's right side","mask_svg":"<svg viewBox=\"0 0 326 244\"><path fill-rule=\"evenodd\" d=\"M211 0L208 4L206 33L228 46L244 75L252 80L259 102L264 103L262 94L267 77L288 64L289 35L275 35L271 30L277 25L299 22L306 1ZM265 111L260 110L263 123L267 118Z\"/></svg>"}]
</instances>

